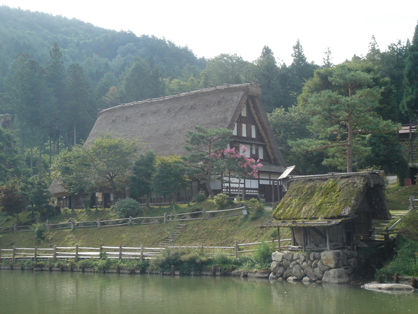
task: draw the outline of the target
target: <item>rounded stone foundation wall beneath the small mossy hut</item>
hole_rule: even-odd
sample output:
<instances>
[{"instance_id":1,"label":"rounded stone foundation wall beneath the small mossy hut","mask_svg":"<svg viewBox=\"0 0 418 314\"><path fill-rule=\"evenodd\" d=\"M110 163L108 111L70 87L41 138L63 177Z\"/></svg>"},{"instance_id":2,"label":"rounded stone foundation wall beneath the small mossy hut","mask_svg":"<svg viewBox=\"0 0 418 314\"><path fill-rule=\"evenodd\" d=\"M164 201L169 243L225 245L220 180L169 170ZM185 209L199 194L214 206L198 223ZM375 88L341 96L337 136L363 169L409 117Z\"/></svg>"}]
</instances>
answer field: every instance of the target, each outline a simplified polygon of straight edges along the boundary
<instances>
[{"instance_id":1,"label":"rounded stone foundation wall beneath the small mossy hut","mask_svg":"<svg viewBox=\"0 0 418 314\"><path fill-rule=\"evenodd\" d=\"M356 251L272 253L270 280L348 283L358 267Z\"/></svg>"}]
</instances>

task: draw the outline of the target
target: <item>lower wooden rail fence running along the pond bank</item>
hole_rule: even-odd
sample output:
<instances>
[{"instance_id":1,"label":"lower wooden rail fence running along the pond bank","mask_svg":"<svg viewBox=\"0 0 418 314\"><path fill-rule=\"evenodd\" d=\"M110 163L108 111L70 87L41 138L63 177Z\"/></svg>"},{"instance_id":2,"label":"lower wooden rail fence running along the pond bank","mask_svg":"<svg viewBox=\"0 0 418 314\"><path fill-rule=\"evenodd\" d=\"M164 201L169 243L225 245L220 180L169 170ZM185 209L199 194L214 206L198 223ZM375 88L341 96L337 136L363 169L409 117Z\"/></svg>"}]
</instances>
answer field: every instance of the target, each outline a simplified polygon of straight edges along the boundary
<instances>
[{"instance_id":1,"label":"lower wooden rail fence running along the pond bank","mask_svg":"<svg viewBox=\"0 0 418 314\"><path fill-rule=\"evenodd\" d=\"M280 242L290 242L291 239L281 239ZM272 244L277 240L272 239ZM8 260L10 264L15 264L22 260L67 260L74 259L75 262L85 260L92 257L102 257L103 255L113 259L152 259L162 254L167 249L170 250L199 250L201 253L208 255L215 255L222 253L224 255L234 255L238 257L242 253L251 253L256 251L255 246L270 242L254 242L238 244L235 241L233 246L164 246L161 248L148 248L141 245L138 248L128 246L100 246L99 248L91 248L84 246L53 246L52 248L0 248L0 262L1 260ZM284 247L281 245L281 247ZM247 248L247 249L240 249Z\"/></svg>"}]
</instances>

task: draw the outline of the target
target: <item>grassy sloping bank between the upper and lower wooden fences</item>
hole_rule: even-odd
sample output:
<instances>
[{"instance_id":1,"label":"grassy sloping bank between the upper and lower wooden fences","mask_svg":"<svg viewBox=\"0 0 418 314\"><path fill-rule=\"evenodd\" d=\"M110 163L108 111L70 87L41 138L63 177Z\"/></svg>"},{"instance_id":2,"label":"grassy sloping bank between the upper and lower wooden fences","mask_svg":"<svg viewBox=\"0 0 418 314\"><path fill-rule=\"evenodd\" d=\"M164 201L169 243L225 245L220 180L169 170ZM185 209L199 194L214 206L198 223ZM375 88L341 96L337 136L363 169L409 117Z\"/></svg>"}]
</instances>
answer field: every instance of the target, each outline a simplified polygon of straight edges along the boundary
<instances>
[{"instance_id":1,"label":"grassy sloping bank between the upper and lower wooden fences","mask_svg":"<svg viewBox=\"0 0 418 314\"><path fill-rule=\"evenodd\" d=\"M265 211L261 218L250 220L242 216L171 222L155 225L134 225L122 227L100 227L70 230L59 230L47 233L47 239L36 241L34 232L17 234L0 234L0 247L33 248L53 246L123 246L159 247L169 234L176 232L180 224L184 230L176 235L176 246L233 246L238 243L271 241L277 237L276 230L263 230L259 225L271 219L271 211Z\"/></svg>"}]
</instances>

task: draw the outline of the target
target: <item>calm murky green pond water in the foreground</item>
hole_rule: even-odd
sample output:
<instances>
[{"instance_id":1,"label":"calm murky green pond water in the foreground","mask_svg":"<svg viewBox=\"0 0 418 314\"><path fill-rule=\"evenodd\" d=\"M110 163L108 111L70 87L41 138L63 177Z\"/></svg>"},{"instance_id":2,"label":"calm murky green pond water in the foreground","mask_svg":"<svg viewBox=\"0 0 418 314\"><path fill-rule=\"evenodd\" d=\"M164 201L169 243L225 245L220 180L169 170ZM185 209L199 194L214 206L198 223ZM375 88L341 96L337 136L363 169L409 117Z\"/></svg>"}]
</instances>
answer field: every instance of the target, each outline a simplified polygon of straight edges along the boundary
<instances>
[{"instance_id":1,"label":"calm murky green pond water in the foreground","mask_svg":"<svg viewBox=\"0 0 418 314\"><path fill-rule=\"evenodd\" d=\"M418 293L249 278L1 270L0 313L418 313Z\"/></svg>"}]
</instances>

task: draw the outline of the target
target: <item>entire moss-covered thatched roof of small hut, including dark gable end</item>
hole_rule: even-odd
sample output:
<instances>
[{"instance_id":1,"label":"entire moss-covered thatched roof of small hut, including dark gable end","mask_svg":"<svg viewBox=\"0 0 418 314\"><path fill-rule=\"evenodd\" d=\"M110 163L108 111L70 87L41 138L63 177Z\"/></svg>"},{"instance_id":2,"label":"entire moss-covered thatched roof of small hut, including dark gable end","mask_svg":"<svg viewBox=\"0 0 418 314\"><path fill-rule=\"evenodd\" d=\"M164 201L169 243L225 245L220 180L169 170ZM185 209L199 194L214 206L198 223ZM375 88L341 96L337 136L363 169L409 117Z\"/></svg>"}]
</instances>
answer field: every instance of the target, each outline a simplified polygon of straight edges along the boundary
<instances>
[{"instance_id":1,"label":"entire moss-covered thatched roof of small hut, including dark gable end","mask_svg":"<svg viewBox=\"0 0 418 314\"><path fill-rule=\"evenodd\" d=\"M279 220L326 220L369 212L390 217L385 180L373 172L291 177L288 192L273 211Z\"/></svg>"}]
</instances>

